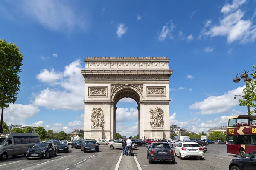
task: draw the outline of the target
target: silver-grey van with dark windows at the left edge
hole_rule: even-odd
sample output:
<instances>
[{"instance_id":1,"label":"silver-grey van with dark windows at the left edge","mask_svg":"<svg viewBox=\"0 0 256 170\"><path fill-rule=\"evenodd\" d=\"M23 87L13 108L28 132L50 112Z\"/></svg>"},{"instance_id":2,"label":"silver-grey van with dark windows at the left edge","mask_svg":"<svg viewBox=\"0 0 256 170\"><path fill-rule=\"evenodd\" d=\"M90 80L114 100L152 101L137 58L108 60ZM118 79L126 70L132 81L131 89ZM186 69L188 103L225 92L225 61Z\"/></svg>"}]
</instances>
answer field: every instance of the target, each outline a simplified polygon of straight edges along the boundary
<instances>
[{"instance_id":1,"label":"silver-grey van with dark windows at the left edge","mask_svg":"<svg viewBox=\"0 0 256 170\"><path fill-rule=\"evenodd\" d=\"M0 133L0 160L26 154L29 147L39 142L37 133Z\"/></svg>"}]
</instances>

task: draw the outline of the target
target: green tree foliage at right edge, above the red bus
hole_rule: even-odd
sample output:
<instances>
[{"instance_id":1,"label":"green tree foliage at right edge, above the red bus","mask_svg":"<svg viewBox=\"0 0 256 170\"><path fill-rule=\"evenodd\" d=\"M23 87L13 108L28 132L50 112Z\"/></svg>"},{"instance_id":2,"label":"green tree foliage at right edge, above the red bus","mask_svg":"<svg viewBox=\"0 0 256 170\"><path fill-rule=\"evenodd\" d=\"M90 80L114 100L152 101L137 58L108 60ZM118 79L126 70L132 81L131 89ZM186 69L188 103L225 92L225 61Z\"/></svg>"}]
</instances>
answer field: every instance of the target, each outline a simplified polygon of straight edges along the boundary
<instances>
[{"instance_id":1,"label":"green tree foliage at right edge, above the red bus","mask_svg":"<svg viewBox=\"0 0 256 170\"><path fill-rule=\"evenodd\" d=\"M254 71L256 71L256 66L253 65ZM256 72L251 74L253 78L256 78ZM243 89L244 98L239 99L239 106L249 106L253 108L248 115L256 113L256 80L252 80L251 82L245 81L246 87Z\"/></svg>"}]
</instances>

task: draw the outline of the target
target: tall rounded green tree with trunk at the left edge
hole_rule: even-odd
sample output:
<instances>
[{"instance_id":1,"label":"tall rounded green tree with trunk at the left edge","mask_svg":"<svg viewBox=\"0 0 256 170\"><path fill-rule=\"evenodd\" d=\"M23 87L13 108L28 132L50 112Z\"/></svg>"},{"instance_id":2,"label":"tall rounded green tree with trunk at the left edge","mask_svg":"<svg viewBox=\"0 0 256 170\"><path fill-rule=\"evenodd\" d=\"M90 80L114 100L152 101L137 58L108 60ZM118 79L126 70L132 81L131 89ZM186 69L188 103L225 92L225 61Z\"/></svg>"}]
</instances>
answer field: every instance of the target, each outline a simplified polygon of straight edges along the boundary
<instances>
[{"instance_id":1,"label":"tall rounded green tree with trunk at the left edge","mask_svg":"<svg viewBox=\"0 0 256 170\"><path fill-rule=\"evenodd\" d=\"M0 133L3 133L3 109L15 103L20 90L20 76L23 55L14 43L0 39Z\"/></svg>"}]
</instances>

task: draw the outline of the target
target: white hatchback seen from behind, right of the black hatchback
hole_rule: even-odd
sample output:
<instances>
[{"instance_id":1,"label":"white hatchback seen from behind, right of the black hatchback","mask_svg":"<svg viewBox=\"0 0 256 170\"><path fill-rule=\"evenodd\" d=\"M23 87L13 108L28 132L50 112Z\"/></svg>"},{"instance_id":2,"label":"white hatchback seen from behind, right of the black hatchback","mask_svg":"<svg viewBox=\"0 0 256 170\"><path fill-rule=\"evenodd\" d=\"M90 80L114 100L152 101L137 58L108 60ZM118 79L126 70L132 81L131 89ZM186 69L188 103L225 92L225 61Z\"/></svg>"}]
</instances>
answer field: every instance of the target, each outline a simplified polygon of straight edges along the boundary
<instances>
[{"instance_id":1,"label":"white hatchback seen from behind, right of the black hatchback","mask_svg":"<svg viewBox=\"0 0 256 170\"><path fill-rule=\"evenodd\" d=\"M196 142L180 142L174 149L174 155L184 158L199 158L204 160L203 149Z\"/></svg>"}]
</instances>

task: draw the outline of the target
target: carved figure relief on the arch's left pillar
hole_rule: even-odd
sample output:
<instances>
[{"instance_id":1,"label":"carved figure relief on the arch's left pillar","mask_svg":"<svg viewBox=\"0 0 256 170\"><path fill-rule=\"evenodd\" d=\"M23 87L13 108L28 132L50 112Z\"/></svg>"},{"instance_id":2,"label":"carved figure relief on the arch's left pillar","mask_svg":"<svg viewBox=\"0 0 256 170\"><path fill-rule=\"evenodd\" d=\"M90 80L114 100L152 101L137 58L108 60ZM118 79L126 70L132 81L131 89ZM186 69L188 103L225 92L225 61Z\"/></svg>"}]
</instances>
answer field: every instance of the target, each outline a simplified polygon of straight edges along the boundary
<instances>
[{"instance_id":1,"label":"carved figure relief on the arch's left pillar","mask_svg":"<svg viewBox=\"0 0 256 170\"><path fill-rule=\"evenodd\" d=\"M93 108L93 113L91 114L91 129L94 128L104 128L104 114L101 108Z\"/></svg>"}]
</instances>

